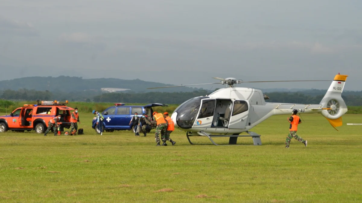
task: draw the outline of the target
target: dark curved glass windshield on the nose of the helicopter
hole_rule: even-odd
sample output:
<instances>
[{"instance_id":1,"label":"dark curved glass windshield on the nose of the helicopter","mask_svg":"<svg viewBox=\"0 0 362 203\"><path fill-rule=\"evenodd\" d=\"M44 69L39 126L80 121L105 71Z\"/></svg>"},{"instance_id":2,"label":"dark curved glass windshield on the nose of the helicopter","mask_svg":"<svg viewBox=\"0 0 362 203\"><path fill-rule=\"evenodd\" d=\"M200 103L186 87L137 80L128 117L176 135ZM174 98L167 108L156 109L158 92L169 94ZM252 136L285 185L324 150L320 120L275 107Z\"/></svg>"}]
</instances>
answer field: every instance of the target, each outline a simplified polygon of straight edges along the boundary
<instances>
[{"instance_id":1,"label":"dark curved glass windshield on the nose of the helicopter","mask_svg":"<svg viewBox=\"0 0 362 203\"><path fill-rule=\"evenodd\" d=\"M189 129L193 126L199 111L201 100L209 98L200 96L181 104L174 112L177 112L176 123L180 128Z\"/></svg>"}]
</instances>

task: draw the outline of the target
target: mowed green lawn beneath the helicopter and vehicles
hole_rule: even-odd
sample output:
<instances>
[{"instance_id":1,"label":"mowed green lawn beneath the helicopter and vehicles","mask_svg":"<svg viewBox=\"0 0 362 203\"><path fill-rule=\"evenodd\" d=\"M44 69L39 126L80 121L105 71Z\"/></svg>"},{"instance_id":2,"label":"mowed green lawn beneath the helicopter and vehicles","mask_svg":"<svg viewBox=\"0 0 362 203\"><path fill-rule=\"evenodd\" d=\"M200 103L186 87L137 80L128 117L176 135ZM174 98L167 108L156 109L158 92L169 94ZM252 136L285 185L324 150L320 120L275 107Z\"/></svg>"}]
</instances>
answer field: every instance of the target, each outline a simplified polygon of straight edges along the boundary
<instances>
[{"instance_id":1,"label":"mowed green lawn beneath the helicopter and vehicles","mask_svg":"<svg viewBox=\"0 0 362 203\"><path fill-rule=\"evenodd\" d=\"M98 135L92 114L80 113L84 135L34 131L0 134L0 202L362 202L362 115L345 115L336 131L319 114L302 115L292 140L287 115L214 146L207 137L175 131L175 146L156 147L131 131ZM228 143L228 138L215 138Z\"/></svg>"}]
</instances>

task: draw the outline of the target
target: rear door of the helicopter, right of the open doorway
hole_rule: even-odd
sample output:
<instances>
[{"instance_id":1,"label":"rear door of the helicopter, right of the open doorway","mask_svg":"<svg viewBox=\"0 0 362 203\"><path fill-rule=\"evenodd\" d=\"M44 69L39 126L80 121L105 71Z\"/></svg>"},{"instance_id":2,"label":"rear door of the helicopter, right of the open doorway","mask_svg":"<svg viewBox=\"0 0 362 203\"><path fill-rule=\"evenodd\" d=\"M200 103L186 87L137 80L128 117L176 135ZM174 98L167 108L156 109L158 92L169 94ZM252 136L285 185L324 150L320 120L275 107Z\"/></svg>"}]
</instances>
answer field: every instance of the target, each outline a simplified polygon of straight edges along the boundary
<instances>
[{"instance_id":1,"label":"rear door of the helicopter, right of the open doorway","mask_svg":"<svg viewBox=\"0 0 362 203\"><path fill-rule=\"evenodd\" d=\"M229 129L244 129L247 126L249 106L250 104L247 100L234 101Z\"/></svg>"}]
</instances>

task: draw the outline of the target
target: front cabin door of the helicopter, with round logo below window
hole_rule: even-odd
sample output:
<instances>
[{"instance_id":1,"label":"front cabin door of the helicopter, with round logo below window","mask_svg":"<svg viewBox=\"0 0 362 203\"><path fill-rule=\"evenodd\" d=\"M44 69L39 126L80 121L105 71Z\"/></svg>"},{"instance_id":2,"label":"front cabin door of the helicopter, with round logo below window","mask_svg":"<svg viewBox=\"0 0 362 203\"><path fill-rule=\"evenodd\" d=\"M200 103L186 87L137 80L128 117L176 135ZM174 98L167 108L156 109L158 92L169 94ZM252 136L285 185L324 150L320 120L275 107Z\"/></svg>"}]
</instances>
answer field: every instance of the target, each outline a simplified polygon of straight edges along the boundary
<instances>
[{"instance_id":1,"label":"front cabin door of the helicopter, with round logo below window","mask_svg":"<svg viewBox=\"0 0 362 203\"><path fill-rule=\"evenodd\" d=\"M216 99L202 99L201 108L193 127L210 128L214 118Z\"/></svg>"}]
</instances>

